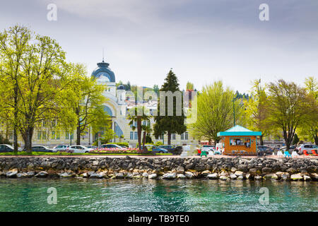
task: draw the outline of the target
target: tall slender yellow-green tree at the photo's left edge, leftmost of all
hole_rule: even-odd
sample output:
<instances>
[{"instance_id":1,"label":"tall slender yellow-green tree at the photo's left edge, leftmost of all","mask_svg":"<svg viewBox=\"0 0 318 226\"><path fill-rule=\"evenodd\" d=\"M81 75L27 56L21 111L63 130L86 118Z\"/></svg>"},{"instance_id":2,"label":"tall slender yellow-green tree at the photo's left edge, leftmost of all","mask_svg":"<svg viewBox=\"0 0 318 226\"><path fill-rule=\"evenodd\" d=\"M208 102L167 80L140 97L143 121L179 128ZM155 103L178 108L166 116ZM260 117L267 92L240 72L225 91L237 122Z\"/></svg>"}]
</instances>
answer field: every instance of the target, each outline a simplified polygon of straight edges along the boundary
<instances>
[{"instance_id":1,"label":"tall slender yellow-green tree at the photo's left edge, leftmost of all","mask_svg":"<svg viewBox=\"0 0 318 226\"><path fill-rule=\"evenodd\" d=\"M25 52L30 48L31 31L20 25L0 33L0 117L13 128L14 152L18 152L18 107Z\"/></svg>"}]
</instances>

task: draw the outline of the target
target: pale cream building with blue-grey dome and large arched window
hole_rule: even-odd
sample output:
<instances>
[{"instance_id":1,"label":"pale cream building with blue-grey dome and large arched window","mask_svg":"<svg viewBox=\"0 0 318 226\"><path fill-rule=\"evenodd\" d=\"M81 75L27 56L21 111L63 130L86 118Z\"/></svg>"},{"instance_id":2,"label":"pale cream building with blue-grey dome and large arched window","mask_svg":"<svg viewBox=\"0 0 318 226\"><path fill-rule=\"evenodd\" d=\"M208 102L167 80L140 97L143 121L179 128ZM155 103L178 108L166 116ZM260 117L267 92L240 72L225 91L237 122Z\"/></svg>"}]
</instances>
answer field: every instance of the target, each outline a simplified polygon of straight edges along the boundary
<instances>
[{"instance_id":1,"label":"pale cream building with blue-grey dome and large arched window","mask_svg":"<svg viewBox=\"0 0 318 226\"><path fill-rule=\"evenodd\" d=\"M102 62L97 64L98 67L92 72L91 76L96 79L98 84L105 85L103 95L107 98L103 107L112 120L112 129L116 136L112 139L112 142L127 142L131 147L136 147L138 143L138 134L136 130L132 129L132 126L136 126L136 122L133 125L129 125L129 120L126 119L129 109L136 107L134 101L134 93L130 90L125 90L124 85L116 86L116 77L110 64L106 63L104 59ZM157 109L157 102L149 100L138 102L137 105L146 105L150 109L151 114ZM154 120L143 121L143 125L150 125L153 128ZM61 144L75 145L76 143L76 130L75 131L52 131L48 124L43 124L35 130L33 136L33 145L47 145L54 147ZM5 133L3 128L0 127L0 133ZM100 134L102 131L100 131ZM9 132L9 141L13 141L13 135ZM94 141L98 139L98 133L93 133L91 129L81 136L81 145L92 145ZM155 139L151 136L152 141L161 141L167 143L167 135L160 136ZM22 138L18 138L18 143L23 146ZM171 144L172 145L185 145L190 143L197 143L193 138L189 136L188 132L182 133L181 135L172 134Z\"/></svg>"}]
</instances>

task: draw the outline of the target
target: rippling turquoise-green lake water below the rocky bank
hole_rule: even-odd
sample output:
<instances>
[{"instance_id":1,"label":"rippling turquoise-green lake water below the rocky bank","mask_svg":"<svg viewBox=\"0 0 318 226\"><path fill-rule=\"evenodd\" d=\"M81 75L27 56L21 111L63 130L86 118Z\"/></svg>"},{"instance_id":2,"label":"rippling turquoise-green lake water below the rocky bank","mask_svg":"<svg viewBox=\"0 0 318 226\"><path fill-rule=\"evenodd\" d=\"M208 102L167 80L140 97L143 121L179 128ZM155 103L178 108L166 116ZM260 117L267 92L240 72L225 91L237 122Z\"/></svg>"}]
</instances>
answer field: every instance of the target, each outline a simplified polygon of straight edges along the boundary
<instances>
[{"instance_id":1,"label":"rippling turquoise-green lake water below the rocky bank","mask_svg":"<svg viewBox=\"0 0 318 226\"><path fill-rule=\"evenodd\" d=\"M259 203L261 187L269 204ZM0 179L0 211L317 211L317 194L317 182Z\"/></svg>"}]
</instances>

